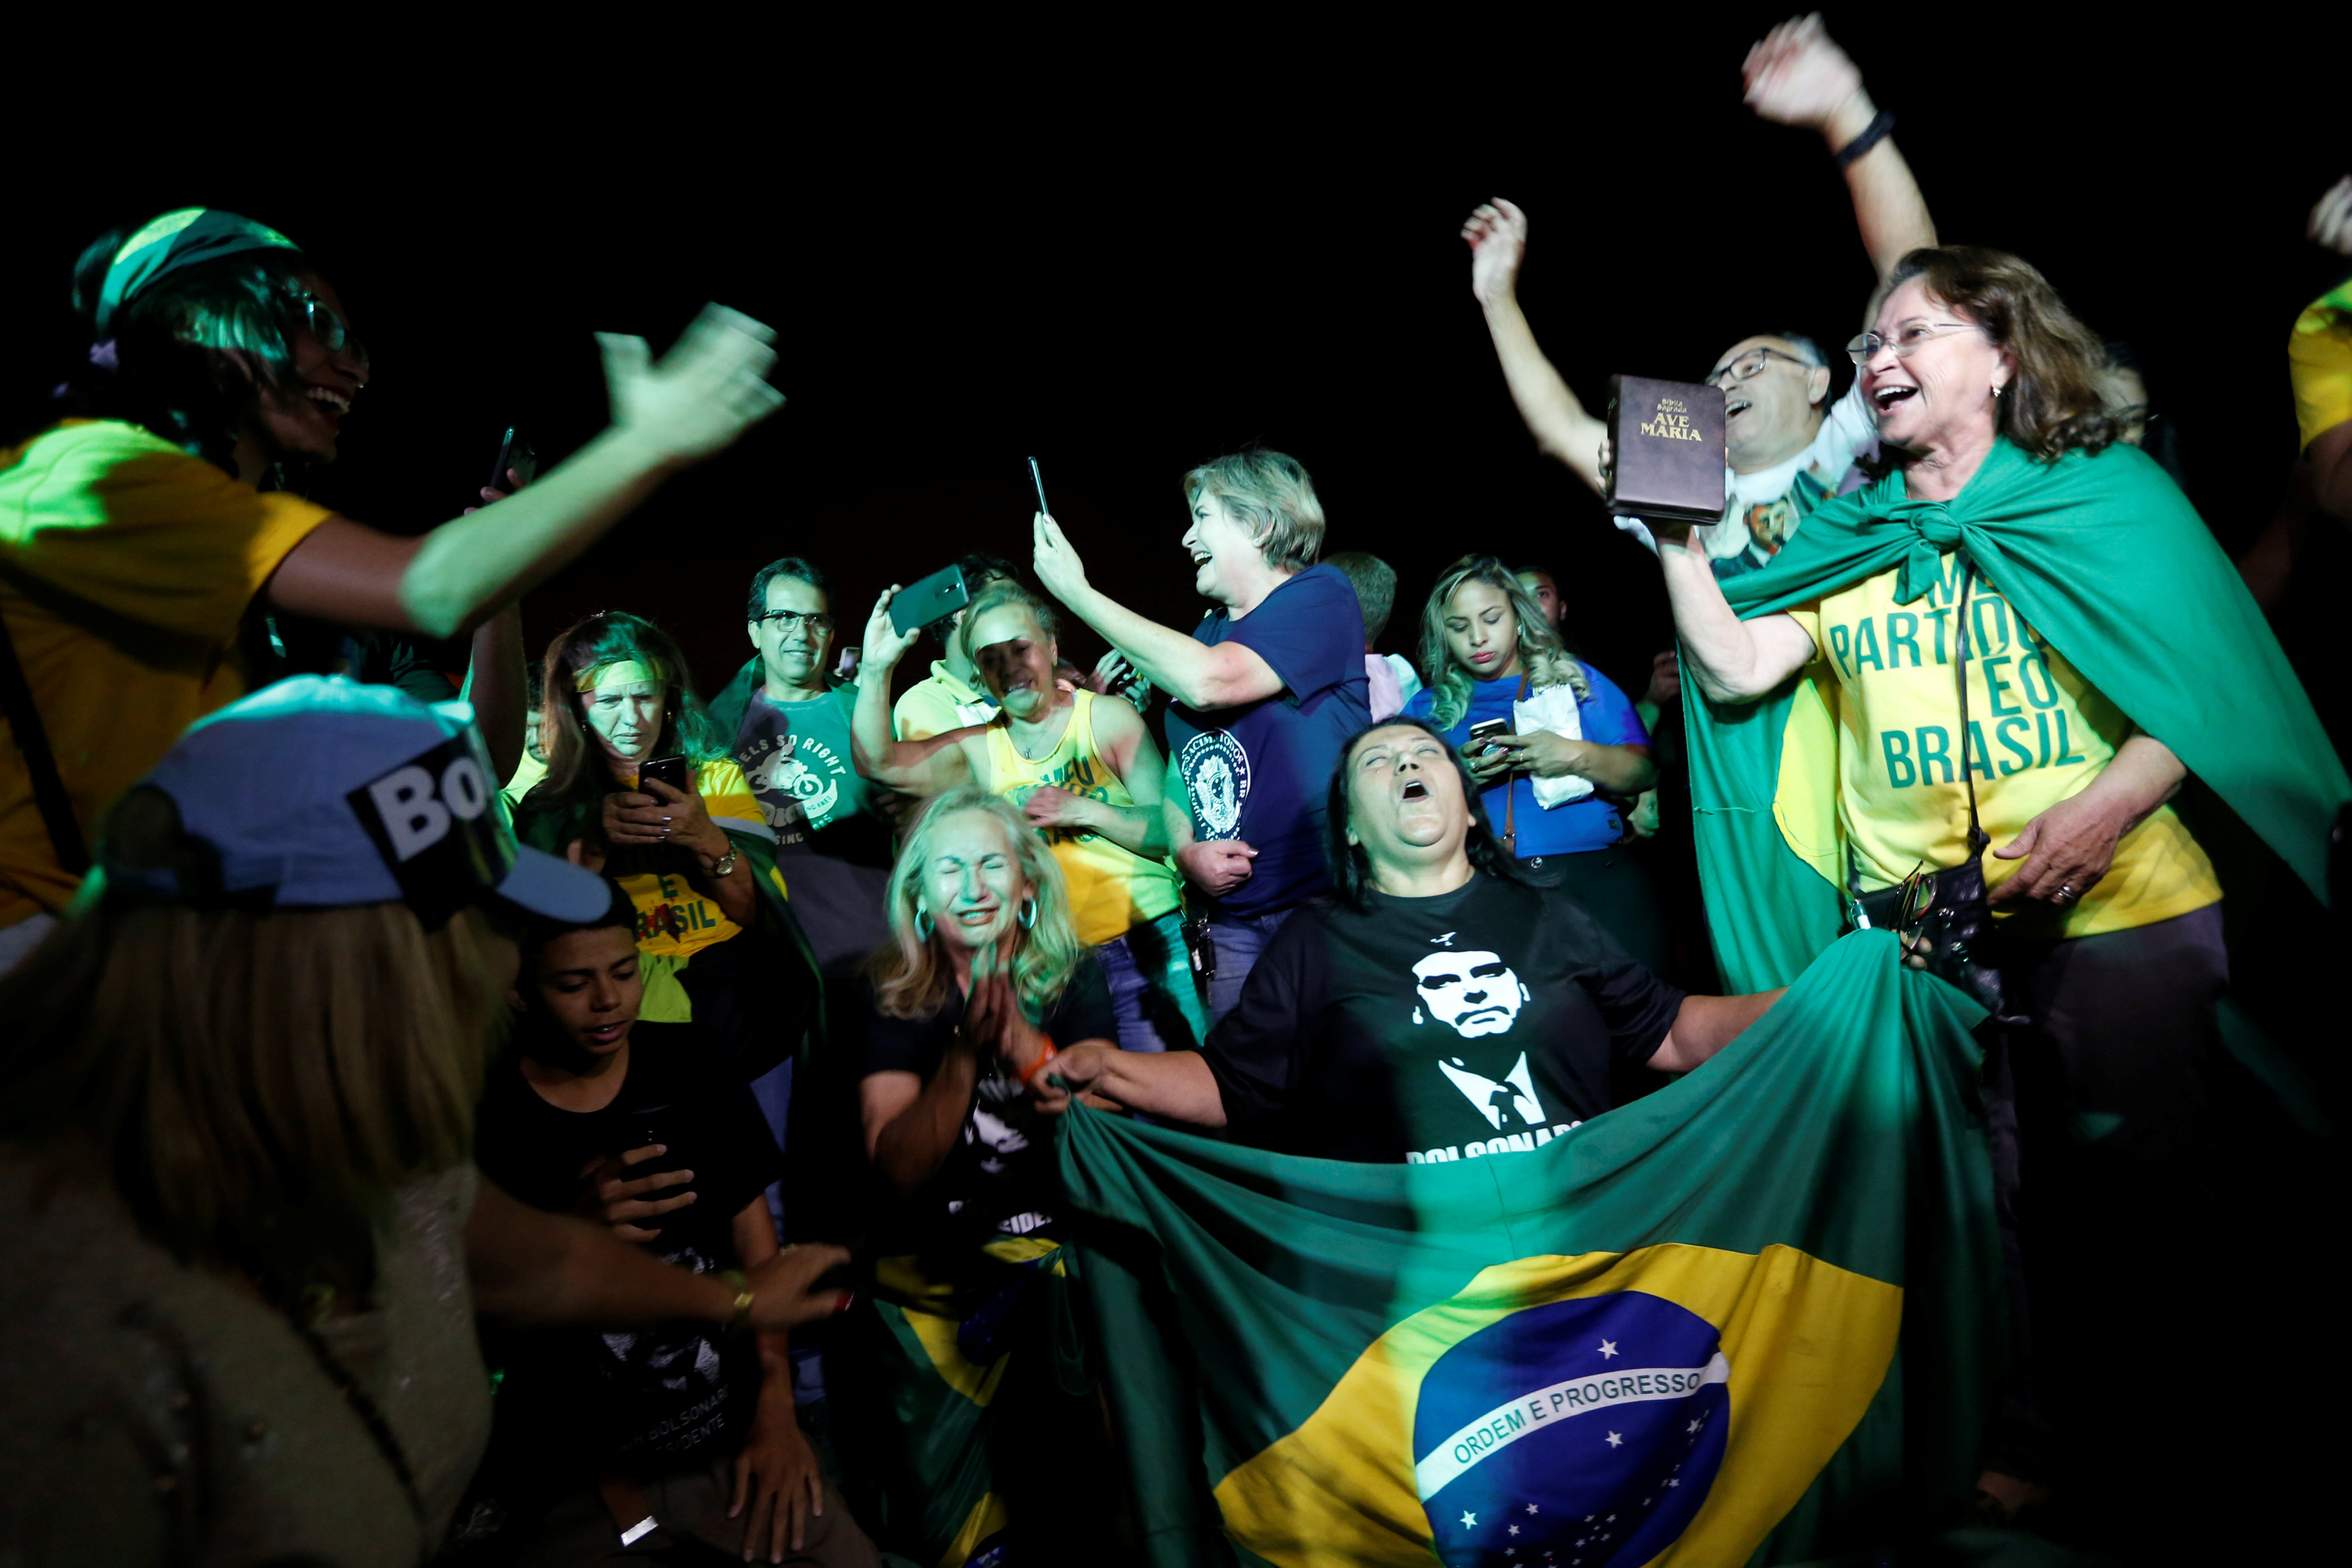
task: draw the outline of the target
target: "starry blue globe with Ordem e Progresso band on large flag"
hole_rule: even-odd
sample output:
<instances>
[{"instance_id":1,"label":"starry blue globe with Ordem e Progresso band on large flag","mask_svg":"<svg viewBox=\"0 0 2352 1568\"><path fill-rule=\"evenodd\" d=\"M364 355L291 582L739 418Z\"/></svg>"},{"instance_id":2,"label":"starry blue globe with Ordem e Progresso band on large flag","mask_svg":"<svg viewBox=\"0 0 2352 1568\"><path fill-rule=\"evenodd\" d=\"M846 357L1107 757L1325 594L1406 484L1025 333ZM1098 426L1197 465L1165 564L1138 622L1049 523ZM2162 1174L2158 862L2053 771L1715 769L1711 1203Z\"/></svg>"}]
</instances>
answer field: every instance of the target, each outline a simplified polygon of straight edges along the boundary
<instances>
[{"instance_id":1,"label":"starry blue globe with Ordem e Progresso band on large flag","mask_svg":"<svg viewBox=\"0 0 2352 1568\"><path fill-rule=\"evenodd\" d=\"M1642 1291L1526 1307L1461 1340L1414 1410L1439 1561L1651 1561L1724 1462L1729 1380L1715 1326Z\"/></svg>"}]
</instances>

